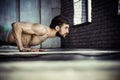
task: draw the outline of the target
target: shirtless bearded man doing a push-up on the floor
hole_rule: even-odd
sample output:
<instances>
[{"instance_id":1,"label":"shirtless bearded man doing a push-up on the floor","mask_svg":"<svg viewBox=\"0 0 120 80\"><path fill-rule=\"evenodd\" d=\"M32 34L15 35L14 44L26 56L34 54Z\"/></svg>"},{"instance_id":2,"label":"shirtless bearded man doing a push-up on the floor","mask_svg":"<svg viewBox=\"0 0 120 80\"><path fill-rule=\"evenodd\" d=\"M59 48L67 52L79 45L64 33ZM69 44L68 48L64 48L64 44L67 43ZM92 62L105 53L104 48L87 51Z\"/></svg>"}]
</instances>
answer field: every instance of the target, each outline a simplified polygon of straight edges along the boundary
<instances>
[{"instance_id":1,"label":"shirtless bearded man doing a push-up on the floor","mask_svg":"<svg viewBox=\"0 0 120 80\"><path fill-rule=\"evenodd\" d=\"M47 38L63 37L69 33L69 21L62 15L53 18L50 26L30 22L15 22L7 36L7 42L16 44L21 52L38 52L40 49L30 48L39 45Z\"/></svg>"}]
</instances>

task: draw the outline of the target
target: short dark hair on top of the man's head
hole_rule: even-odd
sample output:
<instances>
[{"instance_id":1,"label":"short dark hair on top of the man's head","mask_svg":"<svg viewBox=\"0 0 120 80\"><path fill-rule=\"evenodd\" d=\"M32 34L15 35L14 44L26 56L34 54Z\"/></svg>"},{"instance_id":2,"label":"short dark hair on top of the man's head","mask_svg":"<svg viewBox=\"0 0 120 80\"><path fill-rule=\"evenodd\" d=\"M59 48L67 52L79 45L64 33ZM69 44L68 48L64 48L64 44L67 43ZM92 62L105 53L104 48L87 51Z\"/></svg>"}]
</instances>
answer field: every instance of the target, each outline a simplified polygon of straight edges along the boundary
<instances>
[{"instance_id":1,"label":"short dark hair on top of the man's head","mask_svg":"<svg viewBox=\"0 0 120 80\"><path fill-rule=\"evenodd\" d=\"M69 24L68 18L62 15L55 16L50 24L50 28L54 29L57 25L62 26L63 24Z\"/></svg>"}]
</instances>

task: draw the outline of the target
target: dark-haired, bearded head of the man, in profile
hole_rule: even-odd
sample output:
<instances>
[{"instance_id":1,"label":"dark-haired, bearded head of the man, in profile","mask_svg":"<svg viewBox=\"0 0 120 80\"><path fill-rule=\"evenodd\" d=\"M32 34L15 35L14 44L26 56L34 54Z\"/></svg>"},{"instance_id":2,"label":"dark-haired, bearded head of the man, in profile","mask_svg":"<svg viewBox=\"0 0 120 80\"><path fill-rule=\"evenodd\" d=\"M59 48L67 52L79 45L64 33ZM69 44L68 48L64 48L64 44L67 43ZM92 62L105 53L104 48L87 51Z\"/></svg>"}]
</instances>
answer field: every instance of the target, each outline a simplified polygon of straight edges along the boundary
<instances>
[{"instance_id":1,"label":"dark-haired, bearded head of the man, in profile","mask_svg":"<svg viewBox=\"0 0 120 80\"><path fill-rule=\"evenodd\" d=\"M65 38L69 33L69 20L62 15L55 16L51 21L50 28L57 31L56 36Z\"/></svg>"}]
</instances>

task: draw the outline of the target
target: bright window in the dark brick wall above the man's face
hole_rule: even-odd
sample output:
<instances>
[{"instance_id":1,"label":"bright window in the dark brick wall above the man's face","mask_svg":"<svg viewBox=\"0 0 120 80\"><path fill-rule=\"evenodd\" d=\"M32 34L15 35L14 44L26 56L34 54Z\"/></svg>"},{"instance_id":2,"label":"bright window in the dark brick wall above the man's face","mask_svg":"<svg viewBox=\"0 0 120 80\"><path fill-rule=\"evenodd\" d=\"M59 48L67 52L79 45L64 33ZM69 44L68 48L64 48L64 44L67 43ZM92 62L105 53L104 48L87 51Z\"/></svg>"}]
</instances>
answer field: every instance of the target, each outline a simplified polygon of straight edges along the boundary
<instances>
[{"instance_id":1,"label":"bright window in the dark brick wall above the man's face","mask_svg":"<svg viewBox=\"0 0 120 80\"><path fill-rule=\"evenodd\" d=\"M91 0L74 1L74 25L91 22Z\"/></svg>"}]
</instances>

